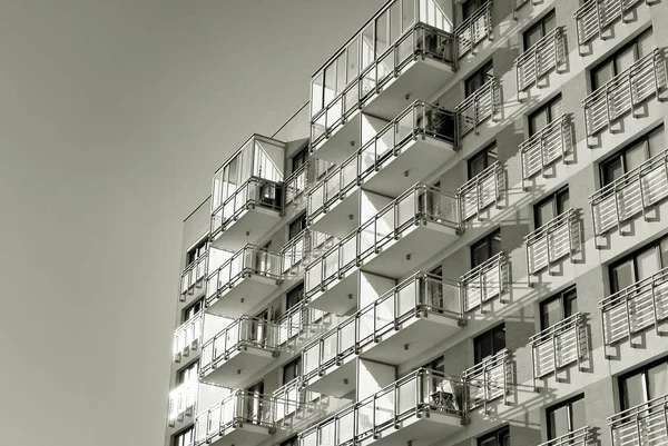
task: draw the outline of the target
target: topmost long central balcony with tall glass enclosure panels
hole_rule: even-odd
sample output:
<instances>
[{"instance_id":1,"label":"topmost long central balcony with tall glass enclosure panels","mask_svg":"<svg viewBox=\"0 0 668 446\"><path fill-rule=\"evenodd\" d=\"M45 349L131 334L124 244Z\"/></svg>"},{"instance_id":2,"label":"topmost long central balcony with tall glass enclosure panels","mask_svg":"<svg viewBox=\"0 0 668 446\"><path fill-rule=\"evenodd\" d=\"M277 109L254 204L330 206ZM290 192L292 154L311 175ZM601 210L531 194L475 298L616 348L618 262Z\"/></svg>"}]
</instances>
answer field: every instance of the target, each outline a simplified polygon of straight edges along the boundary
<instances>
[{"instance_id":1,"label":"topmost long central balcony with tall glass enclosure panels","mask_svg":"<svg viewBox=\"0 0 668 446\"><path fill-rule=\"evenodd\" d=\"M435 0L385 4L313 76L312 153L341 163L351 142L360 147L361 111L391 120L444 85L454 72L451 22Z\"/></svg>"}]
</instances>

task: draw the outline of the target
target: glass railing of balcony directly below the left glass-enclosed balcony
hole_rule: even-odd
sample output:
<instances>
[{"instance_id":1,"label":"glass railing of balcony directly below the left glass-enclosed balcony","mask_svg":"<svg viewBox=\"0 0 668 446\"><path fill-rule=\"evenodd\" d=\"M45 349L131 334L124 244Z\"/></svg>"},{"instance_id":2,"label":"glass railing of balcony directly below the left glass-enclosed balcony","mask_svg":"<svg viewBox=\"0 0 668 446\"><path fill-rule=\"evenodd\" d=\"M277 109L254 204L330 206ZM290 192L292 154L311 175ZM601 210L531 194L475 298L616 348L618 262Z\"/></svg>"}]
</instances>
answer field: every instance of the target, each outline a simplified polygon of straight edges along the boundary
<instances>
[{"instance_id":1,"label":"glass railing of balcony directly below the left glass-enclosed balcony","mask_svg":"<svg viewBox=\"0 0 668 446\"><path fill-rule=\"evenodd\" d=\"M234 254L220 268L213 271L207 281L207 305L218 298L223 291L234 288L240 280L250 276L261 276L279 281L281 254L246 245Z\"/></svg>"}]
</instances>

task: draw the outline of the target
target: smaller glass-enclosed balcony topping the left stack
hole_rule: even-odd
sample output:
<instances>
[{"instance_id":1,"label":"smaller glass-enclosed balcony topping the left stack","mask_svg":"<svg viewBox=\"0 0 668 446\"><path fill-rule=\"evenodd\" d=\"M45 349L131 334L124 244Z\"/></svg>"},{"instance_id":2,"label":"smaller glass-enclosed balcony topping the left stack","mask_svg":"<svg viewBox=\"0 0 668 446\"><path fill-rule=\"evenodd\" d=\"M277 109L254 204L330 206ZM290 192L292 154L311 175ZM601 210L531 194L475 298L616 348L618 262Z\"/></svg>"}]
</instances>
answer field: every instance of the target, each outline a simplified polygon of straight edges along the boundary
<instances>
[{"instance_id":1,"label":"smaller glass-enclosed balcony topping the left stack","mask_svg":"<svg viewBox=\"0 0 668 446\"><path fill-rule=\"evenodd\" d=\"M215 246L239 249L275 225L283 208L284 152L285 143L254 135L216 171L210 221ZM253 218L217 241L248 211Z\"/></svg>"}]
</instances>

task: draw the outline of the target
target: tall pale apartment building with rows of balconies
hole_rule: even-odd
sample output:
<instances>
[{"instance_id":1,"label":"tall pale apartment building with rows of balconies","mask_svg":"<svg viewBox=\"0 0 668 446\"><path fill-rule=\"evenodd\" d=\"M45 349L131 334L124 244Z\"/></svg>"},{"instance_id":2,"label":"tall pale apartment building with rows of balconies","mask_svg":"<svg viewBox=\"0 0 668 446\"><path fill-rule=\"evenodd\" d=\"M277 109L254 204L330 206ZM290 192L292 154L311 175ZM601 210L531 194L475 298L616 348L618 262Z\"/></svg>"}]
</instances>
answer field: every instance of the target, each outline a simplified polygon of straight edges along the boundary
<instances>
[{"instance_id":1,"label":"tall pale apartment building with rows of balconies","mask_svg":"<svg viewBox=\"0 0 668 446\"><path fill-rule=\"evenodd\" d=\"M166 445L668 445L667 22L392 0L323 54L185 220Z\"/></svg>"}]
</instances>

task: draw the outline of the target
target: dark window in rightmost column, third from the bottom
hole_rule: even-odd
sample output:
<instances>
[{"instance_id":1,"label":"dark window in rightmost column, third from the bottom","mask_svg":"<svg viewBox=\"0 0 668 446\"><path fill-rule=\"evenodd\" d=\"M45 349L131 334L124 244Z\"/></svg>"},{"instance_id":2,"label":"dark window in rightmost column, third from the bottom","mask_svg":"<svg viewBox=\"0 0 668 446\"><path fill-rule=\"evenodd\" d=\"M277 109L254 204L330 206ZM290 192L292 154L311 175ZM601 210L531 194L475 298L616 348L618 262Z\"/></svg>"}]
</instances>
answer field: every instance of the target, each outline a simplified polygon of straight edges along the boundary
<instances>
[{"instance_id":1,"label":"dark window in rightmost column, third from the bottom","mask_svg":"<svg viewBox=\"0 0 668 446\"><path fill-rule=\"evenodd\" d=\"M607 186L666 148L664 125L644 135L601 162L601 186Z\"/></svg>"}]
</instances>

